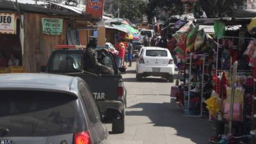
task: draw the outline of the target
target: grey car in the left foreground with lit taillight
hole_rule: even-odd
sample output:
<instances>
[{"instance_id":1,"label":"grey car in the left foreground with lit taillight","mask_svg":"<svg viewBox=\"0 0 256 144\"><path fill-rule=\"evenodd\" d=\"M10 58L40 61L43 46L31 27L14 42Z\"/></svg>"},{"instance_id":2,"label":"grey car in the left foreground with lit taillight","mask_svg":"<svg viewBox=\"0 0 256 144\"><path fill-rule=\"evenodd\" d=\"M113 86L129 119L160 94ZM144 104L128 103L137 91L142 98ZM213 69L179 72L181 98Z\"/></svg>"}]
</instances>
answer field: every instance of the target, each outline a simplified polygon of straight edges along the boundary
<instances>
[{"instance_id":1,"label":"grey car in the left foreground with lit taillight","mask_svg":"<svg viewBox=\"0 0 256 144\"><path fill-rule=\"evenodd\" d=\"M1 74L0 93L1 144L109 143L99 109L79 77Z\"/></svg>"}]
</instances>

